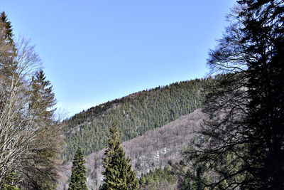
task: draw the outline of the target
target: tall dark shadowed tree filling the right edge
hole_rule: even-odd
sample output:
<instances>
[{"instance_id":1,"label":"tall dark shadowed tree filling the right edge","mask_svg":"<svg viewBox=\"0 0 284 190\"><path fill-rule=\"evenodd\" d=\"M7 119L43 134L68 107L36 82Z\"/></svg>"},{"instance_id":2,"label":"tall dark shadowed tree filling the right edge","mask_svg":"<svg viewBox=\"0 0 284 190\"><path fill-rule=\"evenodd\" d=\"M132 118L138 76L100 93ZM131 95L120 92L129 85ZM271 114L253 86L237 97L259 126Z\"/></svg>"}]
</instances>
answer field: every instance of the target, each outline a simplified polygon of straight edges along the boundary
<instances>
[{"instance_id":1,"label":"tall dark shadowed tree filling the right edge","mask_svg":"<svg viewBox=\"0 0 284 190\"><path fill-rule=\"evenodd\" d=\"M208 120L187 154L210 182L187 176L212 189L284 189L284 1L238 1L229 21L208 61L222 74L203 107Z\"/></svg>"}]
</instances>

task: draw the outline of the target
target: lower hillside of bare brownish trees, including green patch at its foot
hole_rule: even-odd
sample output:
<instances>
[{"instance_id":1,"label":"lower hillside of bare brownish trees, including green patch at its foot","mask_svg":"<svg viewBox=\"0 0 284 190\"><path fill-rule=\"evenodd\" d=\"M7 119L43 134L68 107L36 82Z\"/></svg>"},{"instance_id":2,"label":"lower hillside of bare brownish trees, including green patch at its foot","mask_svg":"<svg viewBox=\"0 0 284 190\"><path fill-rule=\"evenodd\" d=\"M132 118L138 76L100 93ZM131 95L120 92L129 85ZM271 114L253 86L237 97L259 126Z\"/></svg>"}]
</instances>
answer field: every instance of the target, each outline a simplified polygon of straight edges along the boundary
<instances>
[{"instance_id":1,"label":"lower hillside of bare brownish trees, including green patch at its foot","mask_svg":"<svg viewBox=\"0 0 284 190\"><path fill-rule=\"evenodd\" d=\"M204 114L200 109L197 109L163 127L122 143L126 157L131 159L136 176L140 179L141 189L176 189L178 181L175 176L170 176L167 169L162 171L160 168L167 167L169 160L175 163L183 158L182 153L187 150L192 139L195 139L194 132L200 129L200 122L203 119ZM105 149L102 149L84 157L89 189L99 189L103 182L104 152ZM72 162L65 162L58 181L58 189L64 189L64 187L67 189L71 167Z\"/></svg>"}]
</instances>

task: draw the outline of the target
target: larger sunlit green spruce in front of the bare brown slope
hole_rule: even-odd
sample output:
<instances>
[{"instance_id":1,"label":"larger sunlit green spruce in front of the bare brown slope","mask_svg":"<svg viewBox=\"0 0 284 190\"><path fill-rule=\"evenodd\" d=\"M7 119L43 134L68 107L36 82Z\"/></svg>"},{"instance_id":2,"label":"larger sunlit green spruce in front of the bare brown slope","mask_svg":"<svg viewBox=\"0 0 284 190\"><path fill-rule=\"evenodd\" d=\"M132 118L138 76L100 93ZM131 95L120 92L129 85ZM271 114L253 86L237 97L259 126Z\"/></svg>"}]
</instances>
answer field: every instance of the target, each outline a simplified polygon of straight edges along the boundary
<instances>
[{"instance_id":1,"label":"larger sunlit green spruce in front of the bare brown slope","mask_svg":"<svg viewBox=\"0 0 284 190\"><path fill-rule=\"evenodd\" d=\"M101 189L138 189L136 172L131 169L130 159L125 157L116 125L114 124L109 131L111 138L108 140L109 146L104 153L104 184Z\"/></svg>"}]
</instances>

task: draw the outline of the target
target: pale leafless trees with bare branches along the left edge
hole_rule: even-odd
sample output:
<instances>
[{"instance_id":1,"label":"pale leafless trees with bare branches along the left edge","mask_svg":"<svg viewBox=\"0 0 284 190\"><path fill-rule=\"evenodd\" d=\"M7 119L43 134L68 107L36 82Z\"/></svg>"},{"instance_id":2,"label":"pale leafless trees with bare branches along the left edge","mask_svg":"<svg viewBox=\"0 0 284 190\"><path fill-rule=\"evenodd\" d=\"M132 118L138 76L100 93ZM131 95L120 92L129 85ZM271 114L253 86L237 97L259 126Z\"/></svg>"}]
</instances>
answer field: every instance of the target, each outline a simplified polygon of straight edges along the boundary
<instances>
[{"instance_id":1,"label":"pale leafless trees with bare branches along the left edge","mask_svg":"<svg viewBox=\"0 0 284 190\"><path fill-rule=\"evenodd\" d=\"M16 44L9 43L4 34L1 28L0 189L6 184L48 189L54 185L58 165L59 120L54 112L38 120L40 110L51 107L31 106L32 76L40 68L33 46L23 38Z\"/></svg>"}]
</instances>

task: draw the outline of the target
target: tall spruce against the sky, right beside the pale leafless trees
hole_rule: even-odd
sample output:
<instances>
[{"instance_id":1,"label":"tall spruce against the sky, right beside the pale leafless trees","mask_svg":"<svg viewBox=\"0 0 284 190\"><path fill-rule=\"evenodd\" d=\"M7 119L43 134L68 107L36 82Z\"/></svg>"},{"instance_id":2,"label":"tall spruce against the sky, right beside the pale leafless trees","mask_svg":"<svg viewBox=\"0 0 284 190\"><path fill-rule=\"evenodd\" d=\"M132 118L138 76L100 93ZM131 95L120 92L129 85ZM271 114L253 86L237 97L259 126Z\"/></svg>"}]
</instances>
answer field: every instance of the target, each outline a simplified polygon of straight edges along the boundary
<instances>
[{"instance_id":1,"label":"tall spruce against the sky, right beside the pale leafless trees","mask_svg":"<svg viewBox=\"0 0 284 190\"><path fill-rule=\"evenodd\" d=\"M55 169L56 154L60 147L60 124L55 120L55 94L50 81L46 80L43 70L38 70L31 79L31 91L29 111L33 115L33 120L36 123L34 129L37 130L38 138L45 139L38 141L38 147L33 149L33 162L35 163L35 171L30 169L31 174L29 179L37 181L37 186L42 189L54 189L57 178ZM38 128L38 126L41 126ZM43 176L40 177L36 171L43 170Z\"/></svg>"}]
</instances>

